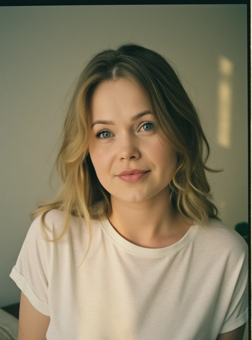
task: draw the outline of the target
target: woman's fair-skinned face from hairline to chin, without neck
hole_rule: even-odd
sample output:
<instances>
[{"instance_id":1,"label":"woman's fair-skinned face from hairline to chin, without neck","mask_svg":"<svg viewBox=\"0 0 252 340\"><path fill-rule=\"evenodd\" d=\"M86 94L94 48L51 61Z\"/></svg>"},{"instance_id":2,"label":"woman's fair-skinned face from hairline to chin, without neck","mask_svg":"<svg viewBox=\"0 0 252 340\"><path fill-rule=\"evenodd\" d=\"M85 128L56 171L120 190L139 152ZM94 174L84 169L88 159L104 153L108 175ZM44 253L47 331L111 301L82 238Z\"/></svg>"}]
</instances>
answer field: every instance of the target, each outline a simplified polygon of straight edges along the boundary
<instances>
[{"instance_id":1,"label":"woman's fair-skinned face from hairline to chin, without neck","mask_svg":"<svg viewBox=\"0 0 252 340\"><path fill-rule=\"evenodd\" d=\"M90 111L92 124L97 120L113 121L113 125L94 124L89 145L97 177L111 196L141 202L166 190L176 169L176 155L171 146L164 146L158 138L151 113L131 120L150 111L141 89L126 78L104 81L93 93ZM101 130L106 131L100 133ZM139 181L123 182L117 175L128 169L149 173Z\"/></svg>"}]
</instances>

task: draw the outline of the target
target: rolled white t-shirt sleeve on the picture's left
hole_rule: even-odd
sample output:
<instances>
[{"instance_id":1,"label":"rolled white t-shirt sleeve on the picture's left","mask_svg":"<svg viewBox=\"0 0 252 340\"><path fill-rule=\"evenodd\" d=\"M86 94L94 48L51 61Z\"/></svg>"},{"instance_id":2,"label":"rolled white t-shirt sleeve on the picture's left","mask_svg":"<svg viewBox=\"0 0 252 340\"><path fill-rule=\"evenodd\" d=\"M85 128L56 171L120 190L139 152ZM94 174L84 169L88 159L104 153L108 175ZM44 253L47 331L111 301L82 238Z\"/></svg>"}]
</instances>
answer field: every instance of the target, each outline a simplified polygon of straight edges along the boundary
<instances>
[{"instance_id":1,"label":"rolled white t-shirt sleeve on the picture's left","mask_svg":"<svg viewBox=\"0 0 252 340\"><path fill-rule=\"evenodd\" d=\"M10 277L42 314L50 316L45 241L40 231L41 215L31 224Z\"/></svg>"}]
</instances>

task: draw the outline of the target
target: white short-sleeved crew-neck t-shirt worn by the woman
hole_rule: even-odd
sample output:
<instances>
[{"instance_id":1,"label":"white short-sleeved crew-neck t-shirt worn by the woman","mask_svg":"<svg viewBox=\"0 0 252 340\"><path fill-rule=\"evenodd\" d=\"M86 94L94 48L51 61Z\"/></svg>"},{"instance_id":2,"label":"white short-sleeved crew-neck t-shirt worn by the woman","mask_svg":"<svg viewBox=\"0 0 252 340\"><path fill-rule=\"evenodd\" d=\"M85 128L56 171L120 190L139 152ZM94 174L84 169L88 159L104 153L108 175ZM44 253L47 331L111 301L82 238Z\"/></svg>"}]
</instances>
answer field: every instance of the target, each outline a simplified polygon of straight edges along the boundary
<instances>
[{"instance_id":1,"label":"white short-sleeved crew-neck t-shirt worn by the woman","mask_svg":"<svg viewBox=\"0 0 252 340\"><path fill-rule=\"evenodd\" d=\"M77 268L89 245L85 219L71 216L56 242L42 238L40 219L9 276L50 316L47 340L216 340L248 321L248 245L218 220L159 249L129 242L108 219L92 221ZM45 217L56 236L63 222L56 209Z\"/></svg>"}]
</instances>

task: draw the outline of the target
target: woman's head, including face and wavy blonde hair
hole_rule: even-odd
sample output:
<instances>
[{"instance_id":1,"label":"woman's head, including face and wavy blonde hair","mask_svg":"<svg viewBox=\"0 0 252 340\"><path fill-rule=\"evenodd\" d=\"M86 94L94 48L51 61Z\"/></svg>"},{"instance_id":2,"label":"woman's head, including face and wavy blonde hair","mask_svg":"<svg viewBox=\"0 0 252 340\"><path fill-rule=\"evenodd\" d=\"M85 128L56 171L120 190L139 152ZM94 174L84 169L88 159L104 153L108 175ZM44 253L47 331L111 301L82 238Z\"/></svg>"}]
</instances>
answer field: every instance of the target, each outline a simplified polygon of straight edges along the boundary
<instances>
[{"instance_id":1,"label":"woman's head, including face and wavy blonde hair","mask_svg":"<svg viewBox=\"0 0 252 340\"><path fill-rule=\"evenodd\" d=\"M147 109L151 114L130 121L131 116ZM97 119L113 120L115 125L92 128ZM139 130L143 120L154 121L155 132L150 124ZM105 139L112 136L110 140L94 137L94 132L102 129L113 132L100 135ZM205 165L209 145L195 107L170 63L155 51L123 44L92 56L77 81L62 137L55 163L62 181L59 193L50 202L43 202L31 217L56 208L67 213L65 226L70 214L85 217L89 226L91 219L108 218L112 212L110 191L119 195L116 181L124 188L113 175L141 167L156 171L152 177L156 189L139 192L137 185L132 185L126 200L148 197L169 183L169 199L179 214L199 224L209 217L217 218L205 170L220 170Z\"/></svg>"}]
</instances>

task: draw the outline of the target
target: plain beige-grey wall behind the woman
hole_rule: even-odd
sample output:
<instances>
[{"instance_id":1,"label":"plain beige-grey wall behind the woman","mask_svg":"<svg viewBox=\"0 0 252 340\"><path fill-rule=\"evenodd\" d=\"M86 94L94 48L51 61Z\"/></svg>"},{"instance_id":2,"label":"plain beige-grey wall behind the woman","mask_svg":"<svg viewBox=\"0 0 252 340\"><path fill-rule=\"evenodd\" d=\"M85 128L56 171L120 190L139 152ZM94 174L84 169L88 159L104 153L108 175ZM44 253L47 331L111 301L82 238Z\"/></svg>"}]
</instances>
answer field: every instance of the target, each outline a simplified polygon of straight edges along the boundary
<instances>
[{"instance_id":1,"label":"plain beige-grey wall behind the woman","mask_svg":"<svg viewBox=\"0 0 252 340\"><path fill-rule=\"evenodd\" d=\"M122 42L176 64L209 139L209 166L225 168L208 175L220 217L230 227L248 221L246 10L242 4L0 8L0 306L20 298L8 275L31 224L28 213L54 195L48 178L64 96L87 58Z\"/></svg>"}]
</instances>

